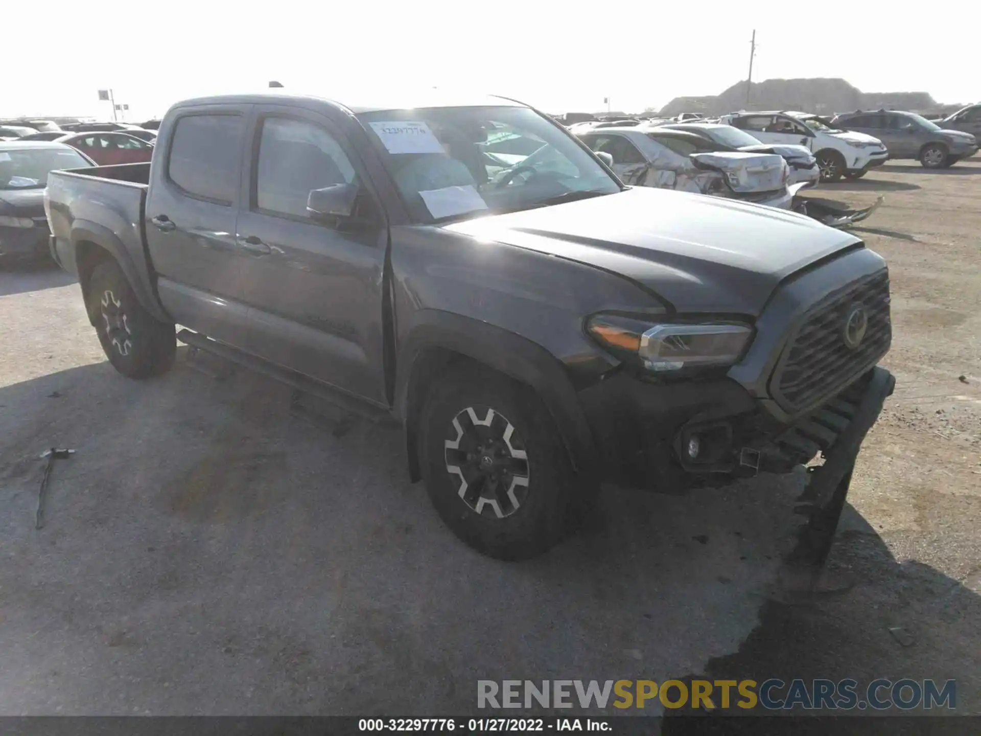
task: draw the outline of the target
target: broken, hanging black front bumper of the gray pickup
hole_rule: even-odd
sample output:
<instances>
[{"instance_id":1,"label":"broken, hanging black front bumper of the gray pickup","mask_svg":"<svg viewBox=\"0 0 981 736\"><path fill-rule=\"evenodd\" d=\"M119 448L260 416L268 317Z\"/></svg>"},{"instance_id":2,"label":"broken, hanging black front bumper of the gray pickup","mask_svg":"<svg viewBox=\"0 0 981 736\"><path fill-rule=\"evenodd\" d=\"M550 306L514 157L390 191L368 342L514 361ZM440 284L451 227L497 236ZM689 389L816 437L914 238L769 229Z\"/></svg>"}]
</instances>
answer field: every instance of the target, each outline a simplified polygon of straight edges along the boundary
<instances>
[{"instance_id":1,"label":"broken, hanging black front bumper of the gray pickup","mask_svg":"<svg viewBox=\"0 0 981 736\"><path fill-rule=\"evenodd\" d=\"M650 385L621 374L580 395L605 480L678 493L788 473L820 454L825 463L812 474L808 497L820 505L841 482L839 469L851 468L895 383L889 371L873 367L787 424L729 380Z\"/></svg>"}]
</instances>

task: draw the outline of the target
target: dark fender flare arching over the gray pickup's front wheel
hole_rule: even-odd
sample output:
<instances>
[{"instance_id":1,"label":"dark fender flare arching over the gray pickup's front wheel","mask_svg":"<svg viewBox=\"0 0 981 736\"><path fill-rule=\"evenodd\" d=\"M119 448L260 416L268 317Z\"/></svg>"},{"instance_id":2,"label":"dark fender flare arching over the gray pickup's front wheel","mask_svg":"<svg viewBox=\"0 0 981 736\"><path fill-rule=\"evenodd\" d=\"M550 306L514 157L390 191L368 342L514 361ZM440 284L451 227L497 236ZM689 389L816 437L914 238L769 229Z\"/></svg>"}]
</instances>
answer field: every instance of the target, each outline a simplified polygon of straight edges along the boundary
<instances>
[{"instance_id":1,"label":"dark fender flare arching over the gray pickup's front wheel","mask_svg":"<svg viewBox=\"0 0 981 736\"><path fill-rule=\"evenodd\" d=\"M594 476L595 446L586 416L562 363L536 344L487 322L423 309L399 350L395 371L395 412L405 426L410 475L420 477L416 425L432 377L434 354L455 353L476 360L530 387L551 414L573 467Z\"/></svg>"}]
</instances>

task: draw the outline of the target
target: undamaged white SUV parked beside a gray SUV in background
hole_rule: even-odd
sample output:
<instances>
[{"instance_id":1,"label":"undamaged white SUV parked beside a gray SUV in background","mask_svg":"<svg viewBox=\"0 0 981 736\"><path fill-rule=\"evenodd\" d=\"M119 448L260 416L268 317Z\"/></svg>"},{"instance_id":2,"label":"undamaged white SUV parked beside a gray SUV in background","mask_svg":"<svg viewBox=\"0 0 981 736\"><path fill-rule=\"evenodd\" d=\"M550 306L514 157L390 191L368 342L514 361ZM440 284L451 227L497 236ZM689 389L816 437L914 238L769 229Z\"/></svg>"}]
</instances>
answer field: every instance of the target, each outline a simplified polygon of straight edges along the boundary
<instances>
[{"instance_id":1,"label":"undamaged white SUV parked beside a gray SUV in background","mask_svg":"<svg viewBox=\"0 0 981 736\"><path fill-rule=\"evenodd\" d=\"M838 130L824 118L808 113L739 112L723 115L719 121L748 131L764 143L806 146L817 159L822 182L837 182L842 177L859 179L889 158L889 149L878 138Z\"/></svg>"}]
</instances>

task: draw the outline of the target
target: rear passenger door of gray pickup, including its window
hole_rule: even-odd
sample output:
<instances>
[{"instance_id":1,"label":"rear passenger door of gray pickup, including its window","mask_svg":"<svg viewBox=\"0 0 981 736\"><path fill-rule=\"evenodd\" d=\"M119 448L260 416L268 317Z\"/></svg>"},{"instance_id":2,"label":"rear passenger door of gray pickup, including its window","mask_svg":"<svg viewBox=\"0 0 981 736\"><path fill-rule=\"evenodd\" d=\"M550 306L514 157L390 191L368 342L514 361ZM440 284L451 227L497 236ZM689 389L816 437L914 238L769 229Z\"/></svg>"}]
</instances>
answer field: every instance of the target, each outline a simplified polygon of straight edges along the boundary
<instances>
[{"instance_id":1,"label":"rear passenger door of gray pickup, including its window","mask_svg":"<svg viewBox=\"0 0 981 736\"><path fill-rule=\"evenodd\" d=\"M179 109L158 145L146 202L146 241L161 300L176 321L242 346L235 220L250 105Z\"/></svg>"}]
</instances>

